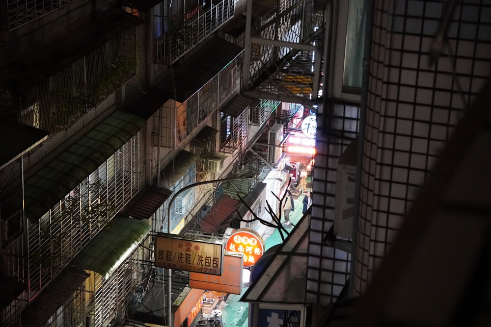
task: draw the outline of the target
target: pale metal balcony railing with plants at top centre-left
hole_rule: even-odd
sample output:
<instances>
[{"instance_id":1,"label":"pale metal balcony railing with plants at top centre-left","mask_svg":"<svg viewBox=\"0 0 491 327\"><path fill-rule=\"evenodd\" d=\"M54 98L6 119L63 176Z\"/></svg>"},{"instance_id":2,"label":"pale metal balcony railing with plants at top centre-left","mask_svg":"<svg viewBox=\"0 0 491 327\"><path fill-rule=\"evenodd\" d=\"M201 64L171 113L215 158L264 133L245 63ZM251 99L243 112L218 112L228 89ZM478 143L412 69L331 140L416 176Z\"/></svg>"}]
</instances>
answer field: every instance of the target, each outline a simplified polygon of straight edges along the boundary
<instances>
[{"instance_id":1,"label":"pale metal balcony railing with plants at top centre-left","mask_svg":"<svg viewBox=\"0 0 491 327\"><path fill-rule=\"evenodd\" d=\"M156 42L156 62L172 64L231 19L234 0L223 0L191 21L172 25L170 31Z\"/></svg>"}]
</instances>

